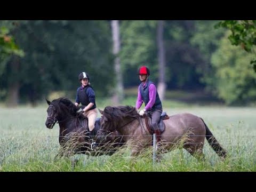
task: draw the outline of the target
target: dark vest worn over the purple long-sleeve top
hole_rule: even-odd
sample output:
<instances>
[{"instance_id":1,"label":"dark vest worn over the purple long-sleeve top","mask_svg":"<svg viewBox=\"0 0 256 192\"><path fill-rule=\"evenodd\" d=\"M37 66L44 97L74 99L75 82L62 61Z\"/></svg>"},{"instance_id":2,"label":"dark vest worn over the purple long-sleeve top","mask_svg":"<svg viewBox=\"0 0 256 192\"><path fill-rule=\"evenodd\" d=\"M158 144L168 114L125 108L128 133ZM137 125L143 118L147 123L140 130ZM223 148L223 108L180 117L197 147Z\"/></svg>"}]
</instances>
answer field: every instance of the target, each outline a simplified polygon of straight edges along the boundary
<instances>
[{"instance_id":1,"label":"dark vest worn over the purple long-sleeve top","mask_svg":"<svg viewBox=\"0 0 256 192\"><path fill-rule=\"evenodd\" d=\"M150 84L154 84L153 82L151 81L147 81L146 82L146 85L145 87L143 87L143 84L141 83L139 86L140 86L140 94L141 94L141 97L143 98L143 101L145 102L145 106L147 106L148 104L148 101L149 101L149 85ZM150 109L150 110L155 110L155 109L162 109L162 102L159 98L159 95L158 95L158 92L156 91L156 101L155 101L155 104L153 105L153 107Z\"/></svg>"}]
</instances>

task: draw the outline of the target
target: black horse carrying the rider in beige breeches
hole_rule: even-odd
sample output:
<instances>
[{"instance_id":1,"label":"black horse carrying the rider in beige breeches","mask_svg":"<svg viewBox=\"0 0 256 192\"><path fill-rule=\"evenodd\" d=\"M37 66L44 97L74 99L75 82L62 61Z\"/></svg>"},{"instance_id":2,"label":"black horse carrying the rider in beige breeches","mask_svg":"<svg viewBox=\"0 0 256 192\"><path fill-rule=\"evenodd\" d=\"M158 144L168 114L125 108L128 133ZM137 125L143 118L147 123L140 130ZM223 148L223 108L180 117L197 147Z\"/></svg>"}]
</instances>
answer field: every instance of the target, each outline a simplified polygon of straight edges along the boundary
<instances>
[{"instance_id":1,"label":"black horse carrying the rider in beige breeches","mask_svg":"<svg viewBox=\"0 0 256 192\"><path fill-rule=\"evenodd\" d=\"M97 131L100 129L99 121L95 122L95 128L90 132L88 127L88 119L77 113L79 107L67 98L58 98L53 101L46 99L49 107L47 108L47 118L45 125L52 129L56 122L59 123L59 143L62 149L59 156L69 156L75 153L90 155L112 155L118 146L121 146L122 138L118 137L118 133L114 132L109 135L104 143L106 145L98 145L98 150L92 149L92 143L97 140Z\"/></svg>"}]
</instances>

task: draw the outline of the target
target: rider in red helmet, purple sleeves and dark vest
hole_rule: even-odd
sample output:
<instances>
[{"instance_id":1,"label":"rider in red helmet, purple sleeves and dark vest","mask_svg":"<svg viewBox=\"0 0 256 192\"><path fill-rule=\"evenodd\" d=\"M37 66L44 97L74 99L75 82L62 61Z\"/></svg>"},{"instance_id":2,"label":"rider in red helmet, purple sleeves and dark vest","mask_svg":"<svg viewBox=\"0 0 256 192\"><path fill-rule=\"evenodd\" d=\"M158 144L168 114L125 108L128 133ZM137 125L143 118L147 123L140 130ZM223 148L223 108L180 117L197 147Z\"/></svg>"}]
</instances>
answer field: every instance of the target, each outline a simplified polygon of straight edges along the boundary
<instances>
[{"instance_id":1,"label":"rider in red helmet, purple sleeves and dark vest","mask_svg":"<svg viewBox=\"0 0 256 192\"><path fill-rule=\"evenodd\" d=\"M163 111L162 102L157 93L155 84L148 78L150 75L148 67L140 67L138 74L141 84L138 87L136 109L138 110L142 103L145 103L145 108L139 111L139 114L140 116L143 116L147 111L147 113L151 115L152 126L154 128L154 132L156 133L157 142L159 142L161 140L161 131L159 130L158 122Z\"/></svg>"}]
</instances>

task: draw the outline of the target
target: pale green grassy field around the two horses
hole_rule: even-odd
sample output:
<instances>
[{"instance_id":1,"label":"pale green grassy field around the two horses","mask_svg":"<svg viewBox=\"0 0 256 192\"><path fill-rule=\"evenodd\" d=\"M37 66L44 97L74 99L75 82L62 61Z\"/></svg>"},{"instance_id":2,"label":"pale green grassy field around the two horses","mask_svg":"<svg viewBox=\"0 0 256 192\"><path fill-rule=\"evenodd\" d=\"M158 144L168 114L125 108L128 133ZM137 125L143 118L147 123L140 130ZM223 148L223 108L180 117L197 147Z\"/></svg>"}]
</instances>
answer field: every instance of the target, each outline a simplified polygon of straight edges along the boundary
<instances>
[{"instance_id":1,"label":"pale green grassy field around the two horses","mask_svg":"<svg viewBox=\"0 0 256 192\"><path fill-rule=\"evenodd\" d=\"M103 109L109 103L100 100L98 107ZM127 98L124 105L134 106L134 97ZM227 149L226 161L221 161L207 141L205 162L197 161L183 149L175 149L153 165L151 149L132 158L129 148L112 156L75 155L54 161L59 149L59 125L52 130L46 128L45 102L36 108L0 108L0 171L256 171L256 108L187 105L173 100L163 101L163 106L168 115L188 112L202 117ZM75 167L74 158L78 159Z\"/></svg>"}]
</instances>

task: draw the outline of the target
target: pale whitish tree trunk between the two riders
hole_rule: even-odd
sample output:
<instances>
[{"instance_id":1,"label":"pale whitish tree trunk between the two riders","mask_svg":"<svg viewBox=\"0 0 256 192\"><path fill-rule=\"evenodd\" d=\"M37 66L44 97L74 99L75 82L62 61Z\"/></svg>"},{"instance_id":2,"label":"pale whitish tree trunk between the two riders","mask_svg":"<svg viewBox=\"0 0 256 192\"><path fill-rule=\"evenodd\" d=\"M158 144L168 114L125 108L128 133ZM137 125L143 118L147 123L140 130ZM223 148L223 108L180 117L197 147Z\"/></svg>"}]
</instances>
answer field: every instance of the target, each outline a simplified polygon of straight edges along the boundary
<instances>
[{"instance_id":1,"label":"pale whitish tree trunk between the two riders","mask_svg":"<svg viewBox=\"0 0 256 192\"><path fill-rule=\"evenodd\" d=\"M120 59L118 57L118 53L120 51L120 38L119 38L119 21L112 20L111 21L111 29L112 29L112 38L113 38L113 54L115 55L115 74L116 74L116 87L115 92L112 97L112 102L114 105L119 105L124 98L124 88L123 88L123 76L120 65Z\"/></svg>"}]
</instances>

